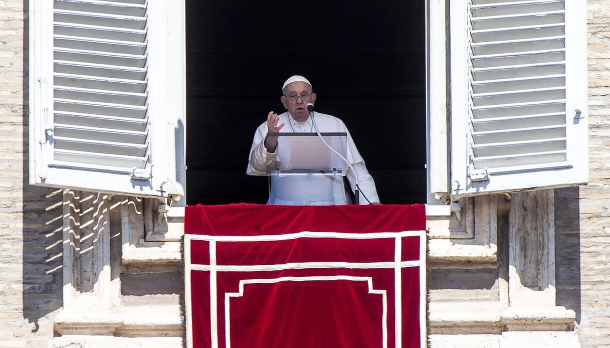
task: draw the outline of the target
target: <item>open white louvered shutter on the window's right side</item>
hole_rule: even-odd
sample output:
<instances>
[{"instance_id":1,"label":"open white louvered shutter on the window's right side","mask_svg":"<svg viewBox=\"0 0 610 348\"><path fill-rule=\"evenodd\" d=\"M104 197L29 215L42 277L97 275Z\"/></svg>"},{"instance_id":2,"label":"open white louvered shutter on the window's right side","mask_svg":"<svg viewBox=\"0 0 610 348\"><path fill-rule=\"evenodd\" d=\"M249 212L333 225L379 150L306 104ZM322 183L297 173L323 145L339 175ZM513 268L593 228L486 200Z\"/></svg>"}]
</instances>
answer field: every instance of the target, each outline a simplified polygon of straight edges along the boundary
<instances>
[{"instance_id":1,"label":"open white louvered shutter on the window's right side","mask_svg":"<svg viewBox=\"0 0 610 348\"><path fill-rule=\"evenodd\" d=\"M586 183L586 7L451 1L454 196Z\"/></svg>"}]
</instances>

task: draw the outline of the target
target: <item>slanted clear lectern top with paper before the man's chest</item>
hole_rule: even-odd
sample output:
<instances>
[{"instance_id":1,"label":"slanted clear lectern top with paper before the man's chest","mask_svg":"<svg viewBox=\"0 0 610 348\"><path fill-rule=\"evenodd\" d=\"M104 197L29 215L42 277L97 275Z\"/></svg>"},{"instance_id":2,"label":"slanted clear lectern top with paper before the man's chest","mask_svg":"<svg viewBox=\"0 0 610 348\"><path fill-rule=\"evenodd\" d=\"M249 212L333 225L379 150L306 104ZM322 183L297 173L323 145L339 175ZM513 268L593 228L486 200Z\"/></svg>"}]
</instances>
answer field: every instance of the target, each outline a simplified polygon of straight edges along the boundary
<instances>
[{"instance_id":1,"label":"slanted clear lectern top with paper before the man's chest","mask_svg":"<svg viewBox=\"0 0 610 348\"><path fill-rule=\"evenodd\" d=\"M347 158L347 133L321 132L324 140ZM347 164L320 140L316 133L279 133L276 166L270 171L347 173Z\"/></svg>"}]
</instances>

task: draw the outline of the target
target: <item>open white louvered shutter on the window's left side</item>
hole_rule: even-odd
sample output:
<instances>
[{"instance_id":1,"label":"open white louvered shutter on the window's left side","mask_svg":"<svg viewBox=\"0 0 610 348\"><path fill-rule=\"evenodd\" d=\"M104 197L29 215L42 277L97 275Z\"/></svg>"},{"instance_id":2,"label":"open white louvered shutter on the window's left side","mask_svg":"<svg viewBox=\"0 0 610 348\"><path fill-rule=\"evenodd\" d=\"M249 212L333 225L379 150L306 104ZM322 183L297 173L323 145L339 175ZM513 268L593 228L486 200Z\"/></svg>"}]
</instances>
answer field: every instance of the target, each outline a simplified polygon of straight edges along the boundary
<instances>
[{"instance_id":1,"label":"open white louvered shutter on the window's left side","mask_svg":"<svg viewBox=\"0 0 610 348\"><path fill-rule=\"evenodd\" d=\"M173 91L184 91L184 63L160 55L178 41L184 57L184 21L168 2L30 2L31 183L182 193L174 129L184 96Z\"/></svg>"}]
</instances>

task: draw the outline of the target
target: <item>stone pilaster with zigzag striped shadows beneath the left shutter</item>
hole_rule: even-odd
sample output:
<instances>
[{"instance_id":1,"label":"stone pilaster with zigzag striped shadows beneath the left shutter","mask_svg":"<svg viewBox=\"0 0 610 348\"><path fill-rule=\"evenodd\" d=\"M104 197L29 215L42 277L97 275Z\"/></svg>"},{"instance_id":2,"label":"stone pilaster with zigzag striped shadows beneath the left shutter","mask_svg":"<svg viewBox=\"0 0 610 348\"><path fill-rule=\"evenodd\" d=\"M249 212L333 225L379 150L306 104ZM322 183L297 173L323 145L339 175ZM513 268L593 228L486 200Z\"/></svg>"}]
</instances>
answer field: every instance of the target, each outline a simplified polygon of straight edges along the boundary
<instances>
[{"instance_id":1,"label":"stone pilaster with zigzag striped shadows beneath the left shutter","mask_svg":"<svg viewBox=\"0 0 610 348\"><path fill-rule=\"evenodd\" d=\"M56 330L62 334L77 331L79 334L100 335L113 332L116 323L112 322L109 313L112 306L117 305L119 289L117 282L113 284L112 281L111 238L110 201L107 195L65 190L63 312L56 321ZM107 322L99 323L99 316L108 317ZM94 320L87 319L90 317L96 317L96 325L91 325Z\"/></svg>"}]
</instances>

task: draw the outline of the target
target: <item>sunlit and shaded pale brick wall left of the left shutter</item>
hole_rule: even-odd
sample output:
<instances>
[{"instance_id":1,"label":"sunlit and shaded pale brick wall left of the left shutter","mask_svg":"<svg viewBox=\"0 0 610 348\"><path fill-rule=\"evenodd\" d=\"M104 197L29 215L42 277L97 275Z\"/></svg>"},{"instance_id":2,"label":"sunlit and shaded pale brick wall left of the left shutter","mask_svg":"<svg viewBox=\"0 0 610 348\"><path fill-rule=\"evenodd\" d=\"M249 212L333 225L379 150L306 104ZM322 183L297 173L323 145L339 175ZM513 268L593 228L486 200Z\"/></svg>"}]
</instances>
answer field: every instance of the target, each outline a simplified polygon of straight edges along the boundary
<instances>
[{"instance_id":1,"label":"sunlit and shaded pale brick wall left of the left shutter","mask_svg":"<svg viewBox=\"0 0 610 348\"><path fill-rule=\"evenodd\" d=\"M62 194L27 184L27 2L0 12L0 347L46 347L62 305Z\"/></svg>"}]
</instances>

